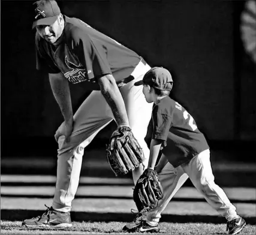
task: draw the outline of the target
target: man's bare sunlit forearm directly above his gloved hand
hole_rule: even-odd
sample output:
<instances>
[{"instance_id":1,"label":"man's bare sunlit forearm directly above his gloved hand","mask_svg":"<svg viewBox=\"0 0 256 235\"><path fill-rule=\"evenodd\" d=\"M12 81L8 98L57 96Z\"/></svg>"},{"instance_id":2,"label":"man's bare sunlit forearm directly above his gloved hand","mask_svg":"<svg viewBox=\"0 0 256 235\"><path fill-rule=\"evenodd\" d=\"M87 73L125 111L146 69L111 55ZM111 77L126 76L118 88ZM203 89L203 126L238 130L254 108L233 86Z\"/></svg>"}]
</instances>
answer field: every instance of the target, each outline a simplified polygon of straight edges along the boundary
<instances>
[{"instance_id":1,"label":"man's bare sunlit forearm directly above his gloved hand","mask_svg":"<svg viewBox=\"0 0 256 235\"><path fill-rule=\"evenodd\" d=\"M125 103L113 76L108 74L98 79L98 82L101 88L101 93L112 109L118 126L128 126L129 120L125 109Z\"/></svg>"}]
</instances>

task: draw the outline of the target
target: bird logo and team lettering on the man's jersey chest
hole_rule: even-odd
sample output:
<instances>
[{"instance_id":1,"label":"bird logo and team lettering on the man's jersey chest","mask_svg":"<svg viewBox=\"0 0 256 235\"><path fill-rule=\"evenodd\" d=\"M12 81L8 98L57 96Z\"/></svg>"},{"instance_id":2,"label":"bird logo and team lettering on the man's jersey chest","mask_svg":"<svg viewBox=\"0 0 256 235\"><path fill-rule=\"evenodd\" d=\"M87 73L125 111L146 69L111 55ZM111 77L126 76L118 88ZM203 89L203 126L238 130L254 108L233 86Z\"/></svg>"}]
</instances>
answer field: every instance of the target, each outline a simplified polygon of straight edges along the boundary
<instances>
[{"instance_id":1,"label":"bird logo and team lettering on the man's jersey chest","mask_svg":"<svg viewBox=\"0 0 256 235\"><path fill-rule=\"evenodd\" d=\"M86 73L85 68L80 63L78 65L74 64L73 62L68 61L67 55L65 56L65 64L70 71L64 73L64 76L71 82L71 83L79 83L88 80L88 75ZM88 71L88 74L92 73L91 70Z\"/></svg>"}]
</instances>

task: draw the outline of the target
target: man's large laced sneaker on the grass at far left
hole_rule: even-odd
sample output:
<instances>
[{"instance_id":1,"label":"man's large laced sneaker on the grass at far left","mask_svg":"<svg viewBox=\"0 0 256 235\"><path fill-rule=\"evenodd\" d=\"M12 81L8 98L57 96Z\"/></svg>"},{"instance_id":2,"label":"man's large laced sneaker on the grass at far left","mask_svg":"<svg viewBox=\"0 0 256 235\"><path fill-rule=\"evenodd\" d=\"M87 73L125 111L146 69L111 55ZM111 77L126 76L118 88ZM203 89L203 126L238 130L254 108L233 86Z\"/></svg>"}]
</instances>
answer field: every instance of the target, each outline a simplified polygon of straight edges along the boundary
<instances>
[{"instance_id":1,"label":"man's large laced sneaker on the grass at far left","mask_svg":"<svg viewBox=\"0 0 256 235\"><path fill-rule=\"evenodd\" d=\"M46 205L44 205L46 206ZM46 206L47 207L47 206ZM22 222L23 226L35 227L35 226L46 226L46 227L71 227L70 212L58 212L53 207L47 207L46 212L41 216L37 216L32 219L25 219Z\"/></svg>"}]
</instances>

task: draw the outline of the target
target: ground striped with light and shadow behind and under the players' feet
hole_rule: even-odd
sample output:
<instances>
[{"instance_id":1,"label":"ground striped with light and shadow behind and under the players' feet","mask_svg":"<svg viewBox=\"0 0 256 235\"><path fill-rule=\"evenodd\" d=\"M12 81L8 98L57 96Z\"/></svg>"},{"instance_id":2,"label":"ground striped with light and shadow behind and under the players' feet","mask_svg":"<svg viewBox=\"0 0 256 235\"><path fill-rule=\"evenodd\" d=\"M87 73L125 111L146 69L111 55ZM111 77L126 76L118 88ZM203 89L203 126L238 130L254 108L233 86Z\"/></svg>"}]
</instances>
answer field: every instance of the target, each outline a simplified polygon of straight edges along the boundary
<instances>
[{"instance_id":1,"label":"ground striped with light and shadow behind and under the players' feet","mask_svg":"<svg viewBox=\"0 0 256 235\"><path fill-rule=\"evenodd\" d=\"M127 234L135 209L130 179L81 177L73 201L73 227L25 228L22 220L38 216L52 203L54 176L1 176L1 234ZM241 234L256 234L255 188L224 188L246 219ZM159 223L162 234L225 234L225 219L192 187L182 187Z\"/></svg>"}]
</instances>

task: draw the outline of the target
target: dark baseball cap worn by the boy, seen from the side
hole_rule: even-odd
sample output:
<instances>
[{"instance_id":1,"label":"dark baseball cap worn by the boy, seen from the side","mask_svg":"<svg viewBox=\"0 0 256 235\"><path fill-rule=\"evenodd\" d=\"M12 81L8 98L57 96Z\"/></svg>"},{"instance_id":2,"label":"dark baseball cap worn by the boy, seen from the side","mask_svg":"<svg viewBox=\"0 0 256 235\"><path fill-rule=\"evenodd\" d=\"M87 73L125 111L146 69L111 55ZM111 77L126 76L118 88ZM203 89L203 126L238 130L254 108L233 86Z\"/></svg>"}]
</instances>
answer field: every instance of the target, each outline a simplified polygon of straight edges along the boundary
<instances>
[{"instance_id":1,"label":"dark baseball cap worn by the boy, seen from the side","mask_svg":"<svg viewBox=\"0 0 256 235\"><path fill-rule=\"evenodd\" d=\"M149 85L161 91L171 91L173 78L166 68L153 67L144 75L143 80L134 83L134 86Z\"/></svg>"}]
</instances>

